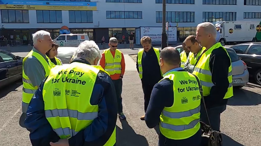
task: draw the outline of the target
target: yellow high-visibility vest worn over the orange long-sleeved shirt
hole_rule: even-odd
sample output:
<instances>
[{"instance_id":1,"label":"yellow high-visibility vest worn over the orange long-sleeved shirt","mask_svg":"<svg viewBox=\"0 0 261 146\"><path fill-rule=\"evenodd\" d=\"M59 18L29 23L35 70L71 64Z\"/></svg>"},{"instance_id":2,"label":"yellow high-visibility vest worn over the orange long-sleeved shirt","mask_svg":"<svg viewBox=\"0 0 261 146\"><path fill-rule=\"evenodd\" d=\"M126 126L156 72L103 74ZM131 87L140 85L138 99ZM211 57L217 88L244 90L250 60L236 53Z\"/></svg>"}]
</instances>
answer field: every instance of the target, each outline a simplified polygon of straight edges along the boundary
<instances>
[{"instance_id":1,"label":"yellow high-visibility vest worn over the orange long-sleeved shirt","mask_svg":"<svg viewBox=\"0 0 261 146\"><path fill-rule=\"evenodd\" d=\"M104 56L105 56L105 71L107 71L110 75L121 74L122 52L116 49L115 56L113 57L109 48L104 50Z\"/></svg>"}]
</instances>

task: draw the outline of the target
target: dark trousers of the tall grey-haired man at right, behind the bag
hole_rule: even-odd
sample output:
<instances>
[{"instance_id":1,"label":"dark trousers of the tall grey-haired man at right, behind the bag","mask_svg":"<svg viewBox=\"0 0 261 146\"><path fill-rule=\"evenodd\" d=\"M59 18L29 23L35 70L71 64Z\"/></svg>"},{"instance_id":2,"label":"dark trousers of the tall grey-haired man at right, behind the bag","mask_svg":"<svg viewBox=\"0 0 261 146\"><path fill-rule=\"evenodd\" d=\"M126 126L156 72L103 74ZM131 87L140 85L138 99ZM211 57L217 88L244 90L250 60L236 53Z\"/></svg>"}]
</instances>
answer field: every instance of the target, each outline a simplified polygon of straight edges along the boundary
<instances>
[{"instance_id":1,"label":"dark trousers of the tall grey-haired man at right, behind the bag","mask_svg":"<svg viewBox=\"0 0 261 146\"><path fill-rule=\"evenodd\" d=\"M225 111L226 108L227 108L227 105L207 108L207 114L209 117L211 128L213 130L220 131L220 114L223 113L223 111ZM204 123L209 125L203 104L201 104L200 119L201 119L200 121L203 121ZM208 141L208 139L206 137L203 137L201 145L202 146L207 145L207 141Z\"/></svg>"}]
</instances>

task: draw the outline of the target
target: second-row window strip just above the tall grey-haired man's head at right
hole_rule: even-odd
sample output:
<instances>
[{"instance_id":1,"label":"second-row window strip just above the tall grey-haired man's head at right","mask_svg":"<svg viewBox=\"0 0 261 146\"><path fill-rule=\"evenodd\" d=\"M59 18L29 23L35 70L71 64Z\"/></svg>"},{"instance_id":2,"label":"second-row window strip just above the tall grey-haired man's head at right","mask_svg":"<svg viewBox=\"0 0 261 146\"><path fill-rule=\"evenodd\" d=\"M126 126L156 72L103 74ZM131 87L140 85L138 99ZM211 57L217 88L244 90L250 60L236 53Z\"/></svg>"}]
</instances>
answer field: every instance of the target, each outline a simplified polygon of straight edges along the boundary
<instances>
[{"instance_id":1,"label":"second-row window strip just above the tall grey-haired man's head at right","mask_svg":"<svg viewBox=\"0 0 261 146\"><path fill-rule=\"evenodd\" d=\"M236 21L236 12L203 12L203 22Z\"/></svg>"}]
</instances>

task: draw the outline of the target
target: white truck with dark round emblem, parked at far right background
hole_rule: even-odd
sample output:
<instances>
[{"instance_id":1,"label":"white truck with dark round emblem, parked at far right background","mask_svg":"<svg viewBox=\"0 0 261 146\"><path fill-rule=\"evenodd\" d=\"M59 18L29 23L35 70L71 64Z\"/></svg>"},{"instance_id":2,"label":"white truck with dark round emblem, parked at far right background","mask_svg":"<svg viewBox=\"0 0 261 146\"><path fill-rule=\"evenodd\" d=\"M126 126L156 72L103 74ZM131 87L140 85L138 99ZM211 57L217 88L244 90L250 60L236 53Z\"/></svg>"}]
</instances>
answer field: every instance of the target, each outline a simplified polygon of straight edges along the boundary
<instances>
[{"instance_id":1,"label":"white truck with dark round emblem, parked at far right background","mask_svg":"<svg viewBox=\"0 0 261 146\"><path fill-rule=\"evenodd\" d=\"M261 40L261 21L217 21L213 24L217 29L216 40L221 44Z\"/></svg>"}]
</instances>

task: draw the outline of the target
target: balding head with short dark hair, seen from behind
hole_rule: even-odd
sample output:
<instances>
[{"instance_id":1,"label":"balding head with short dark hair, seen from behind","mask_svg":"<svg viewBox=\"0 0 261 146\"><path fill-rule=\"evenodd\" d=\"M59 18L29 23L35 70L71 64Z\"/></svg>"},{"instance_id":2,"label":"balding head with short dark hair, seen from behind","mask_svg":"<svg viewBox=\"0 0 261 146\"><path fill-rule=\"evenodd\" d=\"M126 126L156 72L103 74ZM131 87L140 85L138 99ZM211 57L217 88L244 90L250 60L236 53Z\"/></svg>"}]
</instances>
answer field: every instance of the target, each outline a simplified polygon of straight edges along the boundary
<instances>
[{"instance_id":1,"label":"balding head with short dark hair, seen from behind","mask_svg":"<svg viewBox=\"0 0 261 146\"><path fill-rule=\"evenodd\" d=\"M160 58L169 65L179 65L179 51L173 47L166 47L160 52Z\"/></svg>"}]
</instances>

